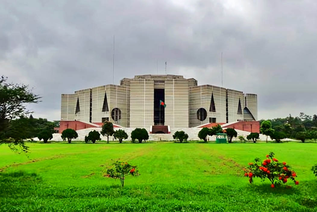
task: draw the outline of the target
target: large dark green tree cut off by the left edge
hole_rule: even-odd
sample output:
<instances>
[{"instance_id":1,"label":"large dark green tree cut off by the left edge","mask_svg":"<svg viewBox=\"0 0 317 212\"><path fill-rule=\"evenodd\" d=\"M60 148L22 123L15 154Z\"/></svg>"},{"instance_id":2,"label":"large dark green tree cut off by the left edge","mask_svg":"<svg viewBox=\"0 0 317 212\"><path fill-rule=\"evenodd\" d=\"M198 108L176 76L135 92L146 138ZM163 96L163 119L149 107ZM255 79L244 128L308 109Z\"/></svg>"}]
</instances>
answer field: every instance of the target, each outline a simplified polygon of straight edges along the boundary
<instances>
[{"instance_id":1,"label":"large dark green tree cut off by the left edge","mask_svg":"<svg viewBox=\"0 0 317 212\"><path fill-rule=\"evenodd\" d=\"M10 133L8 134L7 130L11 120L31 113L26 108L28 103L39 101L40 97L33 94L28 85L7 83L6 77L0 77L0 145L8 144L12 150L16 150L16 146L19 146L22 151L27 152L28 147L24 145L23 139L13 139L13 142L9 139ZM20 128L20 132L23 131L24 128Z\"/></svg>"}]
</instances>

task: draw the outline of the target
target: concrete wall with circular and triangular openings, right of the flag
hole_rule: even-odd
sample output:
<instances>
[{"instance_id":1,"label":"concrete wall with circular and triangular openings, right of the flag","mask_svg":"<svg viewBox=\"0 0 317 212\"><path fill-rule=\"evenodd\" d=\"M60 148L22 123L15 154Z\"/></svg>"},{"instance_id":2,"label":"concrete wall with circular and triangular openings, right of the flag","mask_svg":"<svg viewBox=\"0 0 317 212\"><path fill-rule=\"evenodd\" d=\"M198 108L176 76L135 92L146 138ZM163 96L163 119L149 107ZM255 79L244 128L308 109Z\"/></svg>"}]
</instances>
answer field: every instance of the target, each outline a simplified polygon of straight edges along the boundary
<instances>
[{"instance_id":1,"label":"concrete wall with circular and triangular openings, right of the flag","mask_svg":"<svg viewBox=\"0 0 317 212\"><path fill-rule=\"evenodd\" d=\"M211 94L214 97L216 112L210 110ZM204 108L207 117L204 121L197 119L197 110ZM217 123L226 122L226 89L212 85L199 85L189 88L189 127L209 123L209 118L216 118Z\"/></svg>"}]
</instances>

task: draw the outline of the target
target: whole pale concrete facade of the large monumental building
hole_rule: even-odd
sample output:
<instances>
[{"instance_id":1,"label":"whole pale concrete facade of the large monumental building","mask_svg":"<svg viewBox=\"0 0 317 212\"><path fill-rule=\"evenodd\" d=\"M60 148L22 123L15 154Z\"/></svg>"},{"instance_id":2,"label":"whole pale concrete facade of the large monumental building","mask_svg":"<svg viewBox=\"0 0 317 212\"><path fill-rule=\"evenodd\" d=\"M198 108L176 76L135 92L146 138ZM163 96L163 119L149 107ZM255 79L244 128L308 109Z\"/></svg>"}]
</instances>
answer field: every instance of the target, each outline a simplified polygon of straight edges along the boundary
<instances>
[{"instance_id":1,"label":"whole pale concrete facade of the large monumental building","mask_svg":"<svg viewBox=\"0 0 317 212\"><path fill-rule=\"evenodd\" d=\"M159 105L160 100L166 107ZM165 125L191 128L208 123L257 120L257 95L180 75L138 75L120 85L102 85L61 95L61 120L126 128Z\"/></svg>"}]
</instances>

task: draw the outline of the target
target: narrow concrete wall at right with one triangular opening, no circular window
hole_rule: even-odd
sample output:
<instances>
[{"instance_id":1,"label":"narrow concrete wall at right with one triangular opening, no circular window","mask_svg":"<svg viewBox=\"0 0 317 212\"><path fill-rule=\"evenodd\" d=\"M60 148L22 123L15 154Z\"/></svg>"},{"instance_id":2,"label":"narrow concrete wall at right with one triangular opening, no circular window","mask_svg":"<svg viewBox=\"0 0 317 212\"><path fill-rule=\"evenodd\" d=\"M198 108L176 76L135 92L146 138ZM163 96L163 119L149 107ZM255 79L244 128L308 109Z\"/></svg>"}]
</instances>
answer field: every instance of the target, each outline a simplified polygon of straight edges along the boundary
<instances>
[{"instance_id":1,"label":"narrow concrete wall at right with one triangular opening, no circular window","mask_svg":"<svg viewBox=\"0 0 317 212\"><path fill-rule=\"evenodd\" d=\"M227 89L228 95L228 122L243 120L244 95L242 91ZM237 114L239 99L241 103L242 115Z\"/></svg>"}]
</instances>

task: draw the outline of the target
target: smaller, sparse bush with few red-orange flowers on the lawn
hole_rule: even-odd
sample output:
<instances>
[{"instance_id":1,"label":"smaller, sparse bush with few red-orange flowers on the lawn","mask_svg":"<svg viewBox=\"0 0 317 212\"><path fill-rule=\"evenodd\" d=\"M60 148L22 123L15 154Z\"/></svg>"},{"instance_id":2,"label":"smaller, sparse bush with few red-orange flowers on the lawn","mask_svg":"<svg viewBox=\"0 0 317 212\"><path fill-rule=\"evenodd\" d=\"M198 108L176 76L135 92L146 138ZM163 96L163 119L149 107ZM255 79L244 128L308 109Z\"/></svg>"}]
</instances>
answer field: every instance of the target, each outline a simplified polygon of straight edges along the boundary
<instances>
[{"instance_id":1,"label":"smaller, sparse bush with few red-orange flowers on the lawn","mask_svg":"<svg viewBox=\"0 0 317 212\"><path fill-rule=\"evenodd\" d=\"M126 175L139 176L139 171L136 165L128 164L127 162L115 161L109 167L104 177L120 179L121 186L124 186Z\"/></svg>"}]
</instances>

